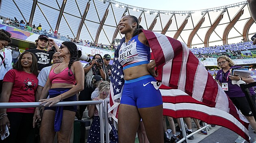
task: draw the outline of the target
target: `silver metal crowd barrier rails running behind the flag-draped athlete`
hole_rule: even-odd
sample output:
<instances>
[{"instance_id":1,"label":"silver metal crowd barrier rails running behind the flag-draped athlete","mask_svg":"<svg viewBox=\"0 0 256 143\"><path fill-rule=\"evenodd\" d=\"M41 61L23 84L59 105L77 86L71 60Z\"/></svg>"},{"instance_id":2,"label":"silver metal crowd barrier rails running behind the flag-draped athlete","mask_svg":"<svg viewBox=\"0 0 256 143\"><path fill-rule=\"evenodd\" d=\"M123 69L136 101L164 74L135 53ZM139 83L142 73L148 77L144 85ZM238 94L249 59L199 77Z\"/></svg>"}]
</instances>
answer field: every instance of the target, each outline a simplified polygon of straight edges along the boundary
<instances>
[{"instance_id":1,"label":"silver metal crowd barrier rails running behind the flag-draped athlete","mask_svg":"<svg viewBox=\"0 0 256 143\"><path fill-rule=\"evenodd\" d=\"M105 124L105 132L106 132L106 142L109 141L109 134L108 134L108 103L109 100L104 100L104 101L66 101L66 102L59 102L54 105L55 106L71 106L71 105L100 105L100 142L104 143L104 124ZM17 103L0 103L0 109L2 108L26 108L26 107L43 107L43 104L41 105L40 102L17 102ZM105 119L103 122L103 119ZM180 124L184 124L183 119L180 118ZM200 132L201 130L206 129L210 125L207 125L205 123L205 126L196 130L195 132L192 132L191 134L187 135L186 134L186 129L184 126L181 126L182 129L182 135L183 138L180 139L177 143L182 143L183 141L188 142L188 138L191 137L192 135L195 135L197 132ZM207 129L206 132L208 133Z\"/></svg>"}]
</instances>

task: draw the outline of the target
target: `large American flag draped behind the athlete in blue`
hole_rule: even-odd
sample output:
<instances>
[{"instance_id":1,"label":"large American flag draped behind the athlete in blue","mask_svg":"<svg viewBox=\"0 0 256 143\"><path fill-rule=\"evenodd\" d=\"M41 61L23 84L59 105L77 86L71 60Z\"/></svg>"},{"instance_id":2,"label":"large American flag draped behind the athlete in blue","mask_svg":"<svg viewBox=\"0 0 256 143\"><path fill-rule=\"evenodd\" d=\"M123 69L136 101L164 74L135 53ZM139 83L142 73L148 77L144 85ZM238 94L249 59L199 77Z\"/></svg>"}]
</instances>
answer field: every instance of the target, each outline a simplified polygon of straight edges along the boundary
<instances>
[{"instance_id":1,"label":"large American flag draped behind the athlete in blue","mask_svg":"<svg viewBox=\"0 0 256 143\"><path fill-rule=\"evenodd\" d=\"M143 30L148 39L162 82L163 114L174 118L192 117L208 124L229 128L249 141L247 119L236 109L204 65L186 44L162 34ZM120 43L124 42L124 39ZM124 73L115 50L111 76L109 115L117 121Z\"/></svg>"}]
</instances>

